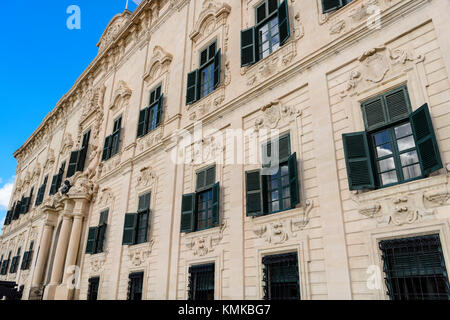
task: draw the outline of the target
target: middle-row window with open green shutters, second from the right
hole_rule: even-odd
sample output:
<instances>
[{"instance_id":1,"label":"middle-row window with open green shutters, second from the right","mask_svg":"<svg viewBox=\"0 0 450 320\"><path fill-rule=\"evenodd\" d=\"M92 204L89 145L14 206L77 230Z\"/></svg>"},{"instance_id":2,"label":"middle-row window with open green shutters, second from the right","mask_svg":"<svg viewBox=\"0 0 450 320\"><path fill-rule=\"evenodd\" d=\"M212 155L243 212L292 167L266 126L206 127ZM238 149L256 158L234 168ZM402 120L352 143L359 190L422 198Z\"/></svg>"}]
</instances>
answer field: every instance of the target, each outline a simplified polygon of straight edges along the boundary
<instances>
[{"instance_id":1,"label":"middle-row window with open green shutters, second from the right","mask_svg":"<svg viewBox=\"0 0 450 320\"><path fill-rule=\"evenodd\" d=\"M262 216L295 208L300 203L297 154L291 154L290 135L284 135L278 145L278 168L271 175L261 170L246 172L247 216ZM272 142L263 146L263 168L269 169ZM265 156L269 158L265 158ZM274 154L275 155L275 154ZM266 160L267 159L267 160Z\"/></svg>"}]
</instances>

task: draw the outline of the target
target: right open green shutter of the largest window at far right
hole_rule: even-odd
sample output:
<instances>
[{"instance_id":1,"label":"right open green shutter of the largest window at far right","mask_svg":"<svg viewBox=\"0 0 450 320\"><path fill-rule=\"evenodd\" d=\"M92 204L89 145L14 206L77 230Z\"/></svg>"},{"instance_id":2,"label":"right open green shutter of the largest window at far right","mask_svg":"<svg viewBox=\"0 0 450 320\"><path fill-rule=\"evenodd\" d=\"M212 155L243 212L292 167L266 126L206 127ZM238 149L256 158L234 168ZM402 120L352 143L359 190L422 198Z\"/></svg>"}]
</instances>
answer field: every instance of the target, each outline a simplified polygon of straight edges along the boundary
<instances>
[{"instance_id":1,"label":"right open green shutter of the largest window at far right","mask_svg":"<svg viewBox=\"0 0 450 320\"><path fill-rule=\"evenodd\" d=\"M424 176L443 167L439 147L431 121L428 104L424 104L410 115L411 127Z\"/></svg>"}]
</instances>

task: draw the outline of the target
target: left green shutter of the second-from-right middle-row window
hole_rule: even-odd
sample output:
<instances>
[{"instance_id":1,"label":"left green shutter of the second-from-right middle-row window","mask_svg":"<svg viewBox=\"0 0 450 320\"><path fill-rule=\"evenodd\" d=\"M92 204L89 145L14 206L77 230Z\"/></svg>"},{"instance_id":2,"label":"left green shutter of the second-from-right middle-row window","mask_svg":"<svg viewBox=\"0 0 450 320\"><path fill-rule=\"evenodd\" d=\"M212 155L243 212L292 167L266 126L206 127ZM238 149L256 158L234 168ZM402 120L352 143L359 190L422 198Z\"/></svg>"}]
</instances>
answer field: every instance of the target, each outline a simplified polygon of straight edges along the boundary
<instances>
[{"instance_id":1,"label":"left green shutter of the second-from-right middle-row window","mask_svg":"<svg viewBox=\"0 0 450 320\"><path fill-rule=\"evenodd\" d=\"M263 215L260 170L247 171L245 173L245 185L247 217Z\"/></svg>"}]
</instances>

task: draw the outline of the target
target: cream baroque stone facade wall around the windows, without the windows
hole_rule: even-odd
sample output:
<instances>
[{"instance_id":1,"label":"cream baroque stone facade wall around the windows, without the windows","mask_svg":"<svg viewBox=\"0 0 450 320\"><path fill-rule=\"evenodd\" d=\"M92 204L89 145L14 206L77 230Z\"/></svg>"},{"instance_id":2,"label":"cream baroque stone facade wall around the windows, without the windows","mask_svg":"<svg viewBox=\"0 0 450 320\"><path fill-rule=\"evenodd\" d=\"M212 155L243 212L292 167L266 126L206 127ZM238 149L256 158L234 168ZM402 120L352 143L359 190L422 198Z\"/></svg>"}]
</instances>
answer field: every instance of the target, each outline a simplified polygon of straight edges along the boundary
<instances>
[{"instance_id":1,"label":"cream baroque stone facade wall around the windows, without the windows","mask_svg":"<svg viewBox=\"0 0 450 320\"><path fill-rule=\"evenodd\" d=\"M129 275L143 272L143 299L187 299L190 266L214 263L216 299L262 299L262 258L296 252L302 299L388 299L379 241L424 234L439 234L450 267L450 23L442 15L449 3L354 0L322 13L321 0L287 0L288 40L241 67L240 32L254 25L260 3L144 0L111 20L97 57L14 154L10 206L34 194L28 213L3 228L0 255L25 252L32 242L34 249L29 269L19 263L0 280L23 285L23 299L85 300L89 279L99 277L99 299L126 299ZM222 52L220 84L186 105L187 74L212 41ZM401 85L412 110L428 103L443 168L351 191L342 134L364 130L362 102ZM158 86L160 125L137 138L140 110ZM120 116L117 153L103 160ZM175 163L173 154L187 152L175 133L193 132L198 122L200 139L186 146L194 150L190 161ZM246 216L245 172L261 164L250 161L248 142L243 163L233 162L230 129L260 138L267 130L289 133L299 205ZM63 179L65 192L49 195L52 176L63 162L67 172L89 131L84 170ZM182 196L196 191L196 172L212 164L221 186L218 225L182 233ZM125 214L148 192L147 241L123 245ZM102 252L86 254L89 230L105 210ZM381 270L378 286L368 285L373 266Z\"/></svg>"}]
</instances>

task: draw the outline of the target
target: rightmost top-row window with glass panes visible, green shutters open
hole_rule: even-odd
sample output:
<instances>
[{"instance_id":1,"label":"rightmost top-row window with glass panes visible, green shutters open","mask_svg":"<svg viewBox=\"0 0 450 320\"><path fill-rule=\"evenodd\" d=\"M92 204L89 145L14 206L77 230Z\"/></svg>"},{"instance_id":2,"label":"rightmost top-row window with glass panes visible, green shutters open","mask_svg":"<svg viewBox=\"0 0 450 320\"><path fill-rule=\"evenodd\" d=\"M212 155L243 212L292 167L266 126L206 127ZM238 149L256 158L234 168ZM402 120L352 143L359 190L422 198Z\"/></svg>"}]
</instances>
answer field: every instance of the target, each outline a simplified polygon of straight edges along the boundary
<instances>
[{"instance_id":1,"label":"rightmost top-row window with glass panes visible, green shutters open","mask_svg":"<svg viewBox=\"0 0 450 320\"><path fill-rule=\"evenodd\" d=\"M264 59L290 36L287 1L265 0L256 7L255 26L241 31L241 66Z\"/></svg>"}]
</instances>

